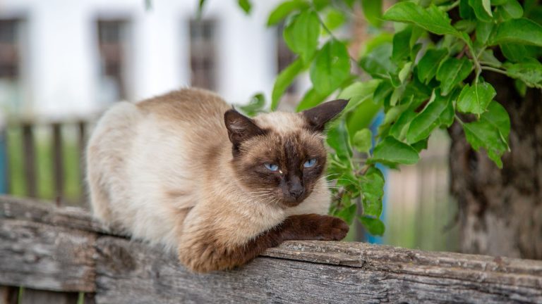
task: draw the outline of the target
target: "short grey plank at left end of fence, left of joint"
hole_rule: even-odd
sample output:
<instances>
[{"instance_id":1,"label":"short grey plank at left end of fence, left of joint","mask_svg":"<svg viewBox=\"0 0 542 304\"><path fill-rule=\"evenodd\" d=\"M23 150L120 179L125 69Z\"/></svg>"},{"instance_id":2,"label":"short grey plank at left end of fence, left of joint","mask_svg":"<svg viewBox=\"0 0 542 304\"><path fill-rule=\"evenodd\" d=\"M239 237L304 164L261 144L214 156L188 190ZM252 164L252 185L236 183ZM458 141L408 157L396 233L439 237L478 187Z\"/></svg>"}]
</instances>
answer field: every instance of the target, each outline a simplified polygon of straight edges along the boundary
<instances>
[{"instance_id":1,"label":"short grey plank at left end of fence, left of joint","mask_svg":"<svg viewBox=\"0 0 542 304\"><path fill-rule=\"evenodd\" d=\"M94 291L95 240L93 232L0 219L0 284Z\"/></svg>"}]
</instances>

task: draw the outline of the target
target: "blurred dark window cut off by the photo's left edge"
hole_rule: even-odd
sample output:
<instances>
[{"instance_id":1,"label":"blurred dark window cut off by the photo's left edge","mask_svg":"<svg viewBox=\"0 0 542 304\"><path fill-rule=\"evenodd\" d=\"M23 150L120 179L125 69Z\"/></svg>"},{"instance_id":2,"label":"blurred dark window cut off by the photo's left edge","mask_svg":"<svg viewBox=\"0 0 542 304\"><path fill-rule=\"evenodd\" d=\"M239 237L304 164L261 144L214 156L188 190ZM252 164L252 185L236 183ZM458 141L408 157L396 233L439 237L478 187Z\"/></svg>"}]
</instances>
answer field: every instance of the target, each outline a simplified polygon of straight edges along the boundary
<instances>
[{"instance_id":1,"label":"blurred dark window cut off by the photo's left edge","mask_svg":"<svg viewBox=\"0 0 542 304\"><path fill-rule=\"evenodd\" d=\"M20 75L18 19L0 20L0 78L16 80Z\"/></svg>"}]
</instances>

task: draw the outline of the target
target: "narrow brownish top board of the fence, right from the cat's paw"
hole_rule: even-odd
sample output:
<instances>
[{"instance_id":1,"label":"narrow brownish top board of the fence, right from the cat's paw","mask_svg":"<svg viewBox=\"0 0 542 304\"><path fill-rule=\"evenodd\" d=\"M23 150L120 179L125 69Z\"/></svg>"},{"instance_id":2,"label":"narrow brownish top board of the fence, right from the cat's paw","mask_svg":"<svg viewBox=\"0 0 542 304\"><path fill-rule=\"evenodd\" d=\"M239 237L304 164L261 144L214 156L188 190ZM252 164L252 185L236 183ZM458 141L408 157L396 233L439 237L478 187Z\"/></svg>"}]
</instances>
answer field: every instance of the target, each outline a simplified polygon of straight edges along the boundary
<instances>
[{"instance_id":1,"label":"narrow brownish top board of the fence, right from the cat's paw","mask_svg":"<svg viewBox=\"0 0 542 304\"><path fill-rule=\"evenodd\" d=\"M526 286L542 291L542 261L417 251L368 243L288 241L266 256L330 265L361 267L435 278L462 279L478 284Z\"/></svg>"}]
</instances>

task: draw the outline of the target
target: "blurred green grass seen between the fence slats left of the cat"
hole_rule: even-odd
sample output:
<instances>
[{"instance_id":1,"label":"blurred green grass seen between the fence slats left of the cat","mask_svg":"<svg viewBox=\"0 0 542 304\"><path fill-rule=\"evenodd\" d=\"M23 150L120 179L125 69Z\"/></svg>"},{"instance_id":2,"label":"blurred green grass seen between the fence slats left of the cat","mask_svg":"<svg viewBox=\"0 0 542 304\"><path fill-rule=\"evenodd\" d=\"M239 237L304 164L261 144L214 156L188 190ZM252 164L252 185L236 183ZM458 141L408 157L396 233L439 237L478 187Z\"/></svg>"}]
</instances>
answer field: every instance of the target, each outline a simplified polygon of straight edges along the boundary
<instances>
[{"instance_id":1,"label":"blurred green grass seen between the fence slats left of the cat","mask_svg":"<svg viewBox=\"0 0 542 304\"><path fill-rule=\"evenodd\" d=\"M76 126L62 127L62 158L64 163L64 196L68 204L81 201L83 185L80 181L79 151L76 141ZM20 126L11 125L7 129L9 192L13 196L28 196L24 171L23 132ZM52 132L49 125L34 128L35 165L37 175L37 197L54 200L54 175Z\"/></svg>"}]
</instances>

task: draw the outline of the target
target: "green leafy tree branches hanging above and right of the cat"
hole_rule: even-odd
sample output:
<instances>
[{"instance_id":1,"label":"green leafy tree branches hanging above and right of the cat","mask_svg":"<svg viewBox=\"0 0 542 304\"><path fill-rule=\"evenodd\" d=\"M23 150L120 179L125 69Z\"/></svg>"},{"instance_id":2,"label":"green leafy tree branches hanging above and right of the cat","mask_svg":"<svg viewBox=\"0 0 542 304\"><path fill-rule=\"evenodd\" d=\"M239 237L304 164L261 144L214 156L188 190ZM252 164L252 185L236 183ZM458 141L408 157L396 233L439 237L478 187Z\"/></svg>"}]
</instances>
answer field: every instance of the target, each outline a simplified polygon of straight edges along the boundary
<instances>
[{"instance_id":1,"label":"green leafy tree branches hanging above and right of the cat","mask_svg":"<svg viewBox=\"0 0 542 304\"><path fill-rule=\"evenodd\" d=\"M250 1L239 4L250 13ZM347 46L353 37L339 39L335 30L353 18L358 4L375 34L364 42L359 56L351 57ZM384 232L379 220L384 179L376 163L392 168L416 163L430 134L457 122L469 144L476 151L485 150L502 167L501 156L510 149L510 118L493 100L495 89L481 72L513 78L520 94L526 87L542 88L538 1L401 1L385 13L382 6L381 0L288 0L267 21L273 26L285 20L284 41L298 54L277 77L271 110L289 84L307 70L313 87L297 110L332 95L350 99L327 134L327 144L334 150L328 170L337 184L330 212L351 223L354 199L360 197L363 215L358 220L379 235ZM395 30L388 30L389 25ZM261 98L255 99L260 105ZM367 127L380 110L385 118L373 145ZM356 158L354 150L366 157Z\"/></svg>"}]
</instances>

